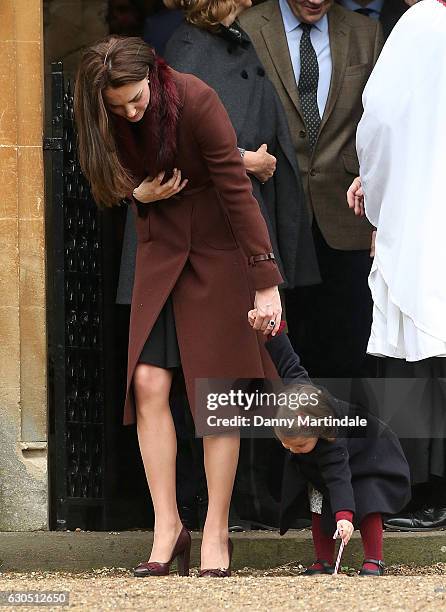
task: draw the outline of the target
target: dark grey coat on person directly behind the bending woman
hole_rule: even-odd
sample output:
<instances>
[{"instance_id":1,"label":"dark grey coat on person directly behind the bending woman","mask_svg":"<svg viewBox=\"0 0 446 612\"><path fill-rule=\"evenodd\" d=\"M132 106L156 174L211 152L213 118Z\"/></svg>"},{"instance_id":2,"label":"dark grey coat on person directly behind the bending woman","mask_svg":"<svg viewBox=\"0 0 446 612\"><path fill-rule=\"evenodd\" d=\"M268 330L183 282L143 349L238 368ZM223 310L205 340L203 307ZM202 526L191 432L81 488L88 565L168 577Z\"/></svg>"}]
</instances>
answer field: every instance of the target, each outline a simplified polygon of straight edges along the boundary
<instances>
[{"instance_id":1,"label":"dark grey coat on person directly behind the bending woman","mask_svg":"<svg viewBox=\"0 0 446 612\"><path fill-rule=\"evenodd\" d=\"M277 158L274 176L263 185L253 175L253 194L267 222L273 251L288 287L320 282L308 210L282 103L254 46L241 32L211 33L182 24L166 46L167 63L194 74L215 89L231 119L237 144L256 151L263 143Z\"/></svg>"}]
</instances>

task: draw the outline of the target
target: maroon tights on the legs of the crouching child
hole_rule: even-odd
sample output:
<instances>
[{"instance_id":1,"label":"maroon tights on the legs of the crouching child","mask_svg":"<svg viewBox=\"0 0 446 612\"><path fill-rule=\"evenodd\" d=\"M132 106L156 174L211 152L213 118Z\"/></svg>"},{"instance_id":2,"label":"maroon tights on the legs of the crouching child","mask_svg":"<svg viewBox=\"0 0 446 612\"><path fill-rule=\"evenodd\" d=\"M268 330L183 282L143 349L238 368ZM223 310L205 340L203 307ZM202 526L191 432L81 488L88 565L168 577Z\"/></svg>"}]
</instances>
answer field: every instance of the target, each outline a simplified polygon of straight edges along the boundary
<instances>
[{"instance_id":1,"label":"maroon tights on the legs of the crouching child","mask_svg":"<svg viewBox=\"0 0 446 612\"><path fill-rule=\"evenodd\" d=\"M336 513L336 521L341 519L351 521L352 515L351 513L348 514L350 518L347 516L347 512ZM330 565L333 565L335 540L333 540L332 536L322 531L320 514L312 512L311 525L316 559L327 561ZM362 545L364 547L364 558L381 561L383 558L383 527L381 514L379 512L374 512L373 514L365 516L361 521L359 530L361 532ZM376 565L373 563L365 563L363 567L367 569L376 569ZM314 563L311 569L322 569L322 566L319 563Z\"/></svg>"}]
</instances>

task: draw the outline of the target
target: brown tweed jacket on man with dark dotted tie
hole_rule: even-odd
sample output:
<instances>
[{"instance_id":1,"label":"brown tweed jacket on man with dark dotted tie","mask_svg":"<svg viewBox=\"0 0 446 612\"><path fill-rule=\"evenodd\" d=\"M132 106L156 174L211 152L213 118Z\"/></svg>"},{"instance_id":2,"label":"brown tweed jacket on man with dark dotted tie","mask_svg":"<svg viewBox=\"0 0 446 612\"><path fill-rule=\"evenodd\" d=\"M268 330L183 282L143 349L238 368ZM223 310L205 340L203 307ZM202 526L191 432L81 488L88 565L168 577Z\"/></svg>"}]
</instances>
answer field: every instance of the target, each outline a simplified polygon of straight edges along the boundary
<instances>
[{"instance_id":1,"label":"brown tweed jacket on man with dark dotted tie","mask_svg":"<svg viewBox=\"0 0 446 612\"><path fill-rule=\"evenodd\" d=\"M334 249L369 249L372 227L365 217L352 214L346 192L359 175L356 128L363 111L362 92L383 46L380 24L338 4L330 8L332 76L318 139L311 150L278 0L244 11L240 23L282 100L306 201L322 235Z\"/></svg>"}]
</instances>

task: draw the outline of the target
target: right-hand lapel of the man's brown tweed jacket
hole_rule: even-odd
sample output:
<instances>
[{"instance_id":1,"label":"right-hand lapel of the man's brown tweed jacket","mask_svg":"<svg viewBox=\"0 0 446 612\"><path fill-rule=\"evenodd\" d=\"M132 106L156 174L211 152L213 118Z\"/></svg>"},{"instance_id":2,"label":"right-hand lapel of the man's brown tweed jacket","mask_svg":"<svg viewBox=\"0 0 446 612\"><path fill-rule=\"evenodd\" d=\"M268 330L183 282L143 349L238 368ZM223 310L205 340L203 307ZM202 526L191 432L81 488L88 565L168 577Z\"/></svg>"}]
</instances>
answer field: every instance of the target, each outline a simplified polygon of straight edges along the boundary
<instances>
[{"instance_id":1,"label":"right-hand lapel of the man's brown tweed jacket","mask_svg":"<svg viewBox=\"0 0 446 612\"><path fill-rule=\"evenodd\" d=\"M320 131L323 130L336 104L344 80L344 73L348 60L350 28L345 23L345 17L336 5L333 5L328 13L328 31L330 36L332 72L330 90L328 92L327 104L325 105Z\"/></svg>"}]
</instances>

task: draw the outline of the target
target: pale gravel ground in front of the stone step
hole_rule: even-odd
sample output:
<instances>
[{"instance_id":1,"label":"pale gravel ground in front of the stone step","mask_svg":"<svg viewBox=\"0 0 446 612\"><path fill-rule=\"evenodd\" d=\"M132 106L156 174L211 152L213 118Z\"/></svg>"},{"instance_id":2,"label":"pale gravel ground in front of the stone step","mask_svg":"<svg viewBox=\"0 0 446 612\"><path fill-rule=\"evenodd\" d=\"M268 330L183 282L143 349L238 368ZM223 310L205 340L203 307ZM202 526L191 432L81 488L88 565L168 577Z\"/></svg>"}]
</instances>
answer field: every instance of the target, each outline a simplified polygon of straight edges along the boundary
<instances>
[{"instance_id":1,"label":"pale gravel ground in front of the stone step","mask_svg":"<svg viewBox=\"0 0 446 612\"><path fill-rule=\"evenodd\" d=\"M260 571L248 568L232 578L133 578L121 568L88 573L0 573L0 591L69 591L70 610L314 610L430 612L446 609L446 564L389 568L383 578L298 577L301 566ZM0 606L17 611L19 606ZM29 607L39 610L42 607ZM64 610L51 606L51 610ZM66 609L66 608L65 608Z\"/></svg>"}]
</instances>

